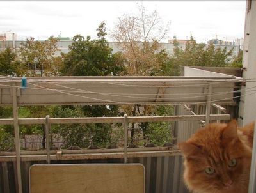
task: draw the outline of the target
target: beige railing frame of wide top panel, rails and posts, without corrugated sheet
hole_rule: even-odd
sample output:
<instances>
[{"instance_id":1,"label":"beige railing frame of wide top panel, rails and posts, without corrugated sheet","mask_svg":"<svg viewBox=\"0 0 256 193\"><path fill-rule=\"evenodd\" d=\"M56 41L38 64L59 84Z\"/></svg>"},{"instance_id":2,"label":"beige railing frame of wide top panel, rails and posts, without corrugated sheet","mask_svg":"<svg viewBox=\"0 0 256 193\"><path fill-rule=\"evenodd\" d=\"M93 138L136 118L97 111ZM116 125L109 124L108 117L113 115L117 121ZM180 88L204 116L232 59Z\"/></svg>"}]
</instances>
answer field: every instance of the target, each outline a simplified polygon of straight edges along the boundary
<instances>
[{"instance_id":1,"label":"beige railing frame of wide top panel, rails and posts, without corrugated sheet","mask_svg":"<svg viewBox=\"0 0 256 193\"><path fill-rule=\"evenodd\" d=\"M16 161L18 192L22 192L20 161L28 160L29 153L20 153L19 125L44 124L46 133L51 124L71 123L123 123L124 150L112 153L112 158L143 157L143 152L129 152L127 150L127 123L158 122L158 121L204 121L229 120L229 114L210 114L211 104L234 104L232 97L236 82L230 78L200 78L200 77L36 77L28 79L27 88L20 87L19 78L4 78L0 82L0 105L13 107L13 118L0 120L0 125L14 125L15 155L0 156L0 160ZM128 89L127 89L128 88ZM204 115L176 115L176 116L145 116L145 117L100 117L100 118L19 118L18 106L22 105L131 105L131 104L207 104ZM125 126L126 125L126 126ZM48 137L48 135L47 135ZM35 156L35 160L68 159L70 156L51 155L49 139L47 150L43 156ZM112 152L115 152L111 150ZM109 153L111 152L109 151ZM120 150L118 150L120 151ZM156 151L150 152L157 155ZM115 156L114 156L115 154ZM164 151L161 155L177 155L179 150ZM78 156L78 155L77 155ZM82 156L82 155L80 155ZM88 155L83 155L88 158ZM93 155L97 156L97 155ZM32 157L32 154L31 154ZM81 157L80 157L81 158Z\"/></svg>"}]
</instances>

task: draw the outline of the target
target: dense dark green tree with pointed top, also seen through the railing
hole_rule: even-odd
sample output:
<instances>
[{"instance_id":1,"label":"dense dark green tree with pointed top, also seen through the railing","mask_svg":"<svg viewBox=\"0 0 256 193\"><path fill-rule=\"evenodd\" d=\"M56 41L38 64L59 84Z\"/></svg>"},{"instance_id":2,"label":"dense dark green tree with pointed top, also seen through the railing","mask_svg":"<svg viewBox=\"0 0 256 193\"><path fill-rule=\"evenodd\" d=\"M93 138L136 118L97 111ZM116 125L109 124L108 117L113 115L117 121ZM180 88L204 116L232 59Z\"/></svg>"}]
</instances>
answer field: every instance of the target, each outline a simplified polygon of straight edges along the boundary
<instances>
[{"instance_id":1,"label":"dense dark green tree with pointed top, also seen through the railing","mask_svg":"<svg viewBox=\"0 0 256 193\"><path fill-rule=\"evenodd\" d=\"M106 41L105 22L97 29L98 38L90 36L84 39L81 35L74 36L69 49L63 54L63 75L94 76L121 75L124 72L124 59L121 53L112 54L112 49ZM57 114L75 114L79 116L117 116L116 105L84 105L77 107L62 107ZM63 113L65 112L65 113ZM89 145L106 146L113 143L111 139L111 124L86 124L61 127L59 132L64 137L67 146L71 144L86 147ZM115 143L115 142L114 142Z\"/></svg>"}]
</instances>

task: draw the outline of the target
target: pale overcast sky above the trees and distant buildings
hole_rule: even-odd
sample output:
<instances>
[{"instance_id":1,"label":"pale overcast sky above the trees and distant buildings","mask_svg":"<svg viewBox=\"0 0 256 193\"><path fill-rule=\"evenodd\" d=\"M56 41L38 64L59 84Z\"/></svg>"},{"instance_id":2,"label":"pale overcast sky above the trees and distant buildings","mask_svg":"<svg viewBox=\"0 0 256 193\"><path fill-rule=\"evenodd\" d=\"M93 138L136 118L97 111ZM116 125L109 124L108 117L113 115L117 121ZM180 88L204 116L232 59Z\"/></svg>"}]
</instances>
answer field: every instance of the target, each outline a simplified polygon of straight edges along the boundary
<instances>
[{"instance_id":1,"label":"pale overcast sky above the trees and distant buildings","mask_svg":"<svg viewBox=\"0 0 256 193\"><path fill-rule=\"evenodd\" d=\"M45 39L60 31L61 36L95 38L100 22L113 29L118 17L138 13L141 2L147 12L157 10L163 22L171 22L168 38L243 38L245 1L0 1L0 33L12 30L19 40Z\"/></svg>"}]
</instances>

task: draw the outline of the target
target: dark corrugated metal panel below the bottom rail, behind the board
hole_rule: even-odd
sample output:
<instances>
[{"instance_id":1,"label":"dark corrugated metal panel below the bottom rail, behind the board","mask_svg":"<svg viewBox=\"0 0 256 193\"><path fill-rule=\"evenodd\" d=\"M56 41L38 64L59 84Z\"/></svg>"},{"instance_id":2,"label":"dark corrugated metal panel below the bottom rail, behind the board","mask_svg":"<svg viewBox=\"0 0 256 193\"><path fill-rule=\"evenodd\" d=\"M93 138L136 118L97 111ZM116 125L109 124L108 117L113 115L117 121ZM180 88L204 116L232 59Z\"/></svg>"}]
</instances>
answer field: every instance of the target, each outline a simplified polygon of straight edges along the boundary
<instances>
[{"instance_id":1,"label":"dark corrugated metal panel below the bottom rail, behind the board","mask_svg":"<svg viewBox=\"0 0 256 193\"><path fill-rule=\"evenodd\" d=\"M175 164L175 160L177 164ZM74 163L123 163L121 159L104 159L104 160L76 160L76 161L58 161L52 164L74 164ZM145 158L129 158L129 163L141 163L145 166L146 176L146 192L147 193L176 193L184 192L183 183L178 181L178 187L174 186L175 178L174 170L180 171L180 157L145 157ZM1 162L0 164L0 192L14 193L16 192L15 183L15 164L14 162ZM46 162L22 162L22 186L23 192L29 192L29 167L33 164L45 164ZM181 164L182 165L182 164ZM181 168L182 169L182 168ZM182 173L179 172L179 176Z\"/></svg>"}]
</instances>

